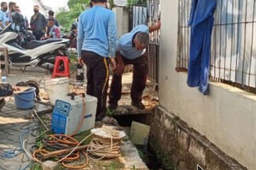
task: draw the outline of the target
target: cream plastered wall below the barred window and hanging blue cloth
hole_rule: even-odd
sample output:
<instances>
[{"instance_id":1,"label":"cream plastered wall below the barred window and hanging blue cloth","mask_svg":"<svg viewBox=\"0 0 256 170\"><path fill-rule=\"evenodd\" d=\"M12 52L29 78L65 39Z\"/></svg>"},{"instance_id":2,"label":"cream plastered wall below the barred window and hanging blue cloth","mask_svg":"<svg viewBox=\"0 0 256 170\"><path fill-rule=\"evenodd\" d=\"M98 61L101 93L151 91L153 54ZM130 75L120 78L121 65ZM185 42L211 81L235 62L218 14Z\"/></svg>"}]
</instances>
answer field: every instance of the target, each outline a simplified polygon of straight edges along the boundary
<instances>
[{"instance_id":1,"label":"cream plastered wall below the barred window and hanging blue cloth","mask_svg":"<svg viewBox=\"0 0 256 170\"><path fill-rule=\"evenodd\" d=\"M256 169L256 95L210 83L210 95L186 85L175 71L178 0L161 1L159 102L249 170Z\"/></svg>"}]
</instances>

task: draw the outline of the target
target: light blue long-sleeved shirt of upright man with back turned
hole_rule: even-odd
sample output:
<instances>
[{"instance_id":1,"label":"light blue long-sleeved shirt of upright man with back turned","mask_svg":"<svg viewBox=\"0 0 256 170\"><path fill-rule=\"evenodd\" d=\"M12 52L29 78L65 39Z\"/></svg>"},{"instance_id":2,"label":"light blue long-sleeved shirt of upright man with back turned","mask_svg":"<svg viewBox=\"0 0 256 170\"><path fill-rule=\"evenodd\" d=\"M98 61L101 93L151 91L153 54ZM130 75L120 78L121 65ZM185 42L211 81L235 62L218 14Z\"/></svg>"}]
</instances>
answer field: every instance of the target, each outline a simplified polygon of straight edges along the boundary
<instances>
[{"instance_id":1,"label":"light blue long-sleeved shirt of upright man with back turned","mask_svg":"<svg viewBox=\"0 0 256 170\"><path fill-rule=\"evenodd\" d=\"M115 13L94 5L79 17L77 53L92 51L102 57L115 57L116 21Z\"/></svg>"}]
</instances>

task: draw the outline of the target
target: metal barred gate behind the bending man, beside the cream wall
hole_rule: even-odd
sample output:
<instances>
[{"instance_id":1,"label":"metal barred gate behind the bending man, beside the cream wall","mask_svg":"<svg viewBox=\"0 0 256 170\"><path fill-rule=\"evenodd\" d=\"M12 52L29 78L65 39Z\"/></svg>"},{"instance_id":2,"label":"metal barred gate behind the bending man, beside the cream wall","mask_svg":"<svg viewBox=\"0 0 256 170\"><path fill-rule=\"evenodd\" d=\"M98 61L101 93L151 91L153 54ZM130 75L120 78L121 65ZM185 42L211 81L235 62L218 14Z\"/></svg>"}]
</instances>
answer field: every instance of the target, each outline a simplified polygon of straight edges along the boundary
<instances>
[{"instance_id":1,"label":"metal barred gate behind the bending man, beside the cream wall","mask_svg":"<svg viewBox=\"0 0 256 170\"><path fill-rule=\"evenodd\" d=\"M160 0L147 0L147 5L132 5L130 8L129 29L144 24L154 26L160 19ZM159 81L159 38L160 31L150 33L150 43L147 49L149 78L156 83Z\"/></svg>"}]
</instances>

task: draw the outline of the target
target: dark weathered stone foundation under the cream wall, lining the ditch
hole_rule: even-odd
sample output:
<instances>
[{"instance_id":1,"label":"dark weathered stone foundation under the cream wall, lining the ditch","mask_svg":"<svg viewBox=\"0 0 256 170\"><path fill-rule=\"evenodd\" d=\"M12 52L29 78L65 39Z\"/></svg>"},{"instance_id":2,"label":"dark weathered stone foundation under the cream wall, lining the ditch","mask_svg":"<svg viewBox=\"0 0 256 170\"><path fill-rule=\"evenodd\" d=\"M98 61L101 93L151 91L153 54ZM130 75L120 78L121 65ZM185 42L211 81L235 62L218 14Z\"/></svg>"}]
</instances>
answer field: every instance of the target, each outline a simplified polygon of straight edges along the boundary
<instances>
[{"instance_id":1,"label":"dark weathered stone foundation under the cream wall, lining the ditch","mask_svg":"<svg viewBox=\"0 0 256 170\"><path fill-rule=\"evenodd\" d=\"M164 151L180 170L247 170L218 149L185 122L157 106L150 133L150 145Z\"/></svg>"}]
</instances>

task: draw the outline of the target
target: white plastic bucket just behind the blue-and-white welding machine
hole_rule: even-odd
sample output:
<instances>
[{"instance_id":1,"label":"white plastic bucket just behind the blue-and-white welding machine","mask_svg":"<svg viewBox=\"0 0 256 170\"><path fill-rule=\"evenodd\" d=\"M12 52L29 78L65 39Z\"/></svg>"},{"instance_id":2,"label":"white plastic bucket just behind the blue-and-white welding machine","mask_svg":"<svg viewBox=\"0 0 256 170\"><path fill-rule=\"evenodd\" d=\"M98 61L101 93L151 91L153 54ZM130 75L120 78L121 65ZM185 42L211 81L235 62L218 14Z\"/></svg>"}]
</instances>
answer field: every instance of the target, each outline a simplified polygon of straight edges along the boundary
<instances>
[{"instance_id":1,"label":"white plastic bucket just behind the blue-and-white welding machine","mask_svg":"<svg viewBox=\"0 0 256 170\"><path fill-rule=\"evenodd\" d=\"M45 90L52 105L55 105L57 99L66 98L69 93L68 85L69 79L67 77L45 80Z\"/></svg>"}]
</instances>

